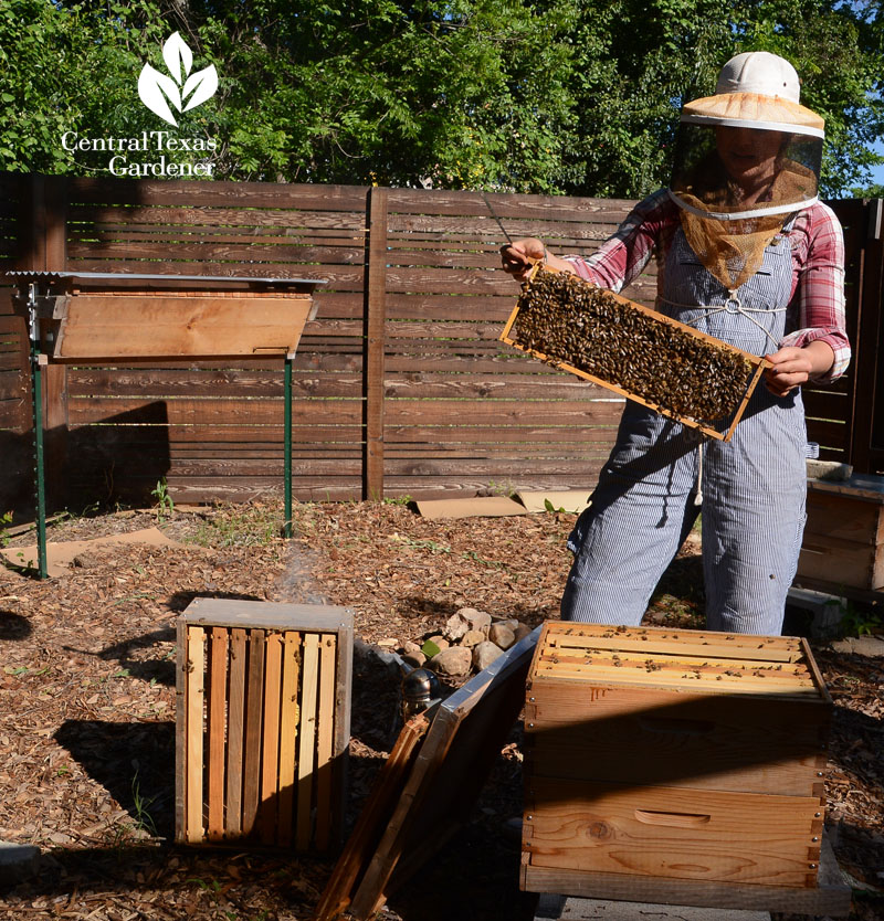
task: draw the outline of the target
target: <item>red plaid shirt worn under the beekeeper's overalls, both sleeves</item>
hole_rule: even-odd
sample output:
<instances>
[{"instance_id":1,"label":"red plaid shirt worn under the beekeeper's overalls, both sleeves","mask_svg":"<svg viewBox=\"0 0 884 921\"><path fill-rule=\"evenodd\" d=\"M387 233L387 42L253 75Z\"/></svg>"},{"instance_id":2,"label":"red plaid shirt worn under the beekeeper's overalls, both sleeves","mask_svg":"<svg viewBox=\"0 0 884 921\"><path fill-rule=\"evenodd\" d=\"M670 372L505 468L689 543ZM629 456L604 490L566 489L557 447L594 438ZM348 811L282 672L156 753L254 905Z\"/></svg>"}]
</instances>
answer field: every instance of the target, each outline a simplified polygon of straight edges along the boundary
<instances>
[{"instance_id":1,"label":"red plaid shirt worn under the beekeeper's overalls, both sleeves","mask_svg":"<svg viewBox=\"0 0 884 921\"><path fill-rule=\"evenodd\" d=\"M600 287L620 292L644 268L655 247L665 253L680 227L678 205L665 189L640 202L617 233L588 258L566 256L577 274ZM788 231L792 247L790 305L798 306L798 329L782 346L802 348L821 339L835 354L831 369L814 381L840 378L850 363L844 327L844 237L832 210L821 202L800 211ZM663 274L657 276L657 286ZM797 293L797 296L796 296ZM657 290L660 295L660 289Z\"/></svg>"}]
</instances>

